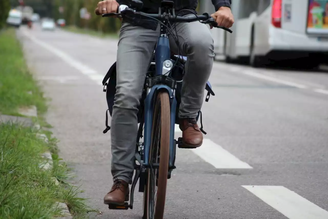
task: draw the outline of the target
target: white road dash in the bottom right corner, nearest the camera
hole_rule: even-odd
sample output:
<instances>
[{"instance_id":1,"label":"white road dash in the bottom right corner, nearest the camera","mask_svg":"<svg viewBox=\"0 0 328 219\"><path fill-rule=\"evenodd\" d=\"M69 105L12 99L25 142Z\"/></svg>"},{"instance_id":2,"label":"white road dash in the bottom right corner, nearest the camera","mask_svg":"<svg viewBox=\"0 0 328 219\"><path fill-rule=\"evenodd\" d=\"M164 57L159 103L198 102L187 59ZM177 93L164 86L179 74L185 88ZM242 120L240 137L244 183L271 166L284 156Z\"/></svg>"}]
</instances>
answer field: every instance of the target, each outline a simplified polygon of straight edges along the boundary
<instances>
[{"instance_id":1,"label":"white road dash in the bottom right corner, nearest the camera","mask_svg":"<svg viewBox=\"0 0 328 219\"><path fill-rule=\"evenodd\" d=\"M289 219L327 219L328 211L283 186L242 185Z\"/></svg>"}]
</instances>

